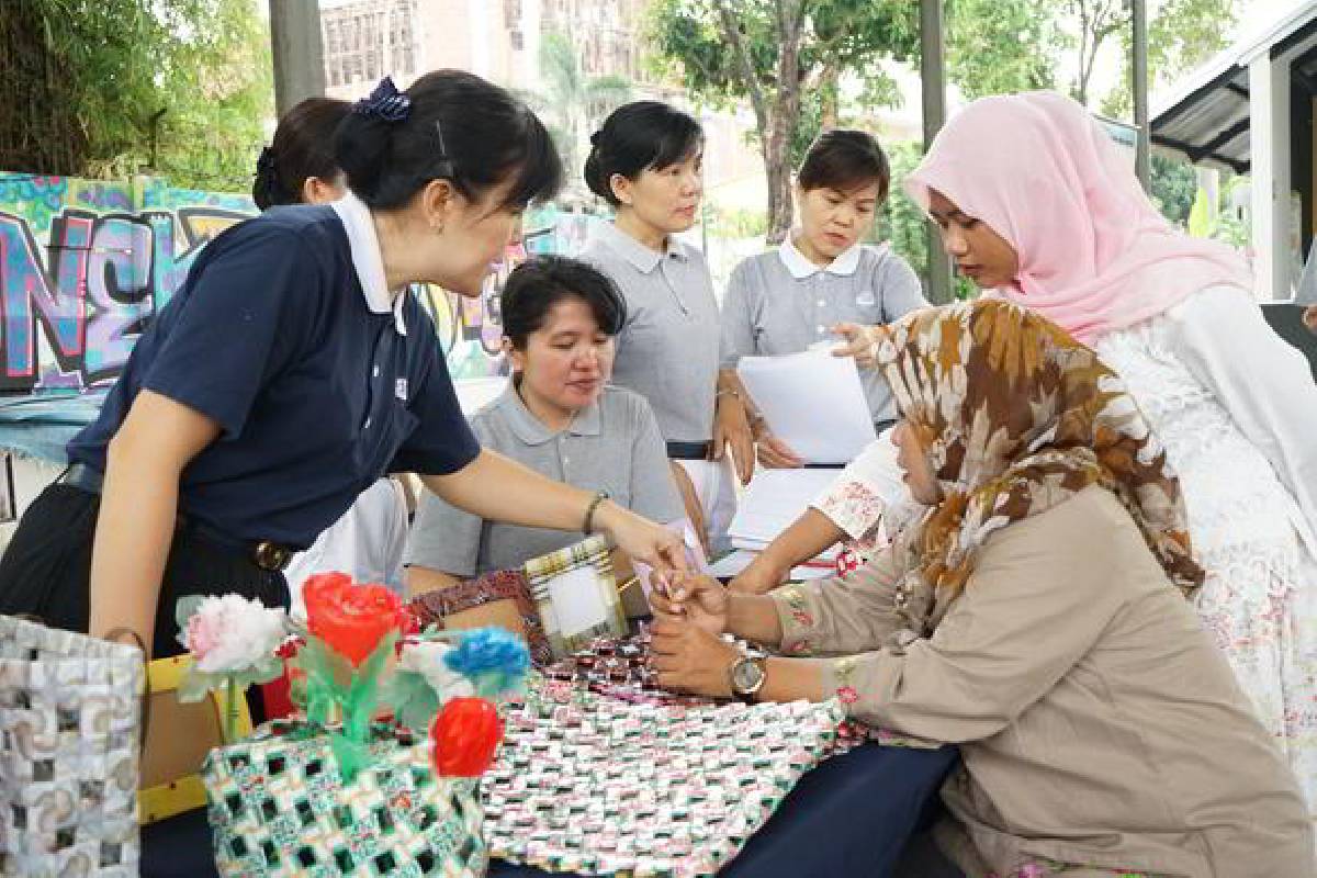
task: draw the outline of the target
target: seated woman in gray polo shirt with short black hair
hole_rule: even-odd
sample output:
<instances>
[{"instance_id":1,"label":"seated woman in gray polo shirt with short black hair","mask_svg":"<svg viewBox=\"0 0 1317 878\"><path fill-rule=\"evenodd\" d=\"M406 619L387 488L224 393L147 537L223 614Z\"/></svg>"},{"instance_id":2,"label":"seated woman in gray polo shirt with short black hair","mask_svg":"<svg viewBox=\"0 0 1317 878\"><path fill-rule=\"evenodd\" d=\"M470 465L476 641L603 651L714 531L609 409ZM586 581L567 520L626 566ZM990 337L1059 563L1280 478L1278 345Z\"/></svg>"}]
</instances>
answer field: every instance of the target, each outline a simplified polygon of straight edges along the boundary
<instances>
[{"instance_id":1,"label":"seated woman in gray polo shirt with short black hair","mask_svg":"<svg viewBox=\"0 0 1317 878\"><path fill-rule=\"evenodd\" d=\"M653 412L607 384L627 313L616 284L585 262L536 257L511 272L500 305L512 379L471 419L481 445L680 529L685 512ZM490 521L427 494L407 545L407 584L412 595L453 586L582 538Z\"/></svg>"}]
</instances>

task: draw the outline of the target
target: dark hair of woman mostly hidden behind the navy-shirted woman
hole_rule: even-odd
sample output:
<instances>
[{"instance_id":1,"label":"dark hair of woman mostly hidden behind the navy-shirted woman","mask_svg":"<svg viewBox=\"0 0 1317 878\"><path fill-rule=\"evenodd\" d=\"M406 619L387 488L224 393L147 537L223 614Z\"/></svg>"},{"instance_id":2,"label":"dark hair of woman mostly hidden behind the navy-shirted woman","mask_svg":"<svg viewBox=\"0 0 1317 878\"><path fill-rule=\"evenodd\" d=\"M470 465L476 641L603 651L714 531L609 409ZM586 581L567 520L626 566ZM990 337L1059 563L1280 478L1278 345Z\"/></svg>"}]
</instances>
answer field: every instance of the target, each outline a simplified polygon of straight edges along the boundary
<instances>
[{"instance_id":1,"label":"dark hair of woman mostly hidden behind the navy-shirted woman","mask_svg":"<svg viewBox=\"0 0 1317 878\"><path fill-rule=\"evenodd\" d=\"M307 178L329 180L338 174L333 134L350 109L345 100L308 97L283 115L255 167L252 200L258 208L299 204Z\"/></svg>"}]
</instances>

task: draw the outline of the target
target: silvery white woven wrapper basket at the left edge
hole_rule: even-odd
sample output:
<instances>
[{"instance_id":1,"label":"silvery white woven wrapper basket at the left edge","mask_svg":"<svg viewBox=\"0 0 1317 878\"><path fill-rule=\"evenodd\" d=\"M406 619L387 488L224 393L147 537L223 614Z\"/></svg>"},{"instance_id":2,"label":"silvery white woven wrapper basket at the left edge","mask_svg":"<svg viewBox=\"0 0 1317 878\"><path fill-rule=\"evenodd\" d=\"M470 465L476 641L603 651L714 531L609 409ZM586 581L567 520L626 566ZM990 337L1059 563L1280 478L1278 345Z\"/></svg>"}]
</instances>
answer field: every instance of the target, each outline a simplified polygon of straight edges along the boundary
<instances>
[{"instance_id":1,"label":"silvery white woven wrapper basket at the left edge","mask_svg":"<svg viewBox=\"0 0 1317 878\"><path fill-rule=\"evenodd\" d=\"M136 878L142 652L0 616L0 874Z\"/></svg>"}]
</instances>

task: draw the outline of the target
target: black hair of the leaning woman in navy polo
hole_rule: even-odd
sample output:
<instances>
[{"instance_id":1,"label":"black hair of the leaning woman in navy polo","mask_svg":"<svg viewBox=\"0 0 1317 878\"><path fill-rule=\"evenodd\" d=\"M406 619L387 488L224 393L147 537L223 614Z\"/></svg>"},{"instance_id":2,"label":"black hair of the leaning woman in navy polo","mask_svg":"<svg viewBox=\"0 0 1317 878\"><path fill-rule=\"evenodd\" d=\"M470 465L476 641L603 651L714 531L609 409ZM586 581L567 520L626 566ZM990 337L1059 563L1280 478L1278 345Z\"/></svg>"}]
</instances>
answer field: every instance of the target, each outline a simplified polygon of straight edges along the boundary
<instances>
[{"instance_id":1,"label":"black hair of the leaning woman in navy polo","mask_svg":"<svg viewBox=\"0 0 1317 878\"><path fill-rule=\"evenodd\" d=\"M335 138L348 187L369 207L403 207L436 179L475 200L511 176L500 207L518 208L561 188L562 159L548 130L507 90L475 74L437 70L404 93L407 118L352 112Z\"/></svg>"}]
</instances>

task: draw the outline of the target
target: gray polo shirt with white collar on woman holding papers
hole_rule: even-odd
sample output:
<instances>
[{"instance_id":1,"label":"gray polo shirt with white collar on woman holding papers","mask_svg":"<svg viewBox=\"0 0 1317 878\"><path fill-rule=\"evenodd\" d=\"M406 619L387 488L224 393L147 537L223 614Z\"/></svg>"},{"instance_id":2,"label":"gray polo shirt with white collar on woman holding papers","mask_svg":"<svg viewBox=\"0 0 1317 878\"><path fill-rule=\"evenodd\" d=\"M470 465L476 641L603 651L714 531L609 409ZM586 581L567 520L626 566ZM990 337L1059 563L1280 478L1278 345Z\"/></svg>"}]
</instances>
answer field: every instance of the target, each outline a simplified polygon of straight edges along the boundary
<instances>
[{"instance_id":1,"label":"gray polo shirt with white collar on woman holding papers","mask_svg":"<svg viewBox=\"0 0 1317 878\"><path fill-rule=\"evenodd\" d=\"M753 255L732 271L723 297L722 365L798 354L820 341L840 341L828 332L834 324L885 324L927 304L919 276L886 245L856 245L819 267L788 236L777 250ZM873 420L894 419L892 388L882 374L861 369L860 379Z\"/></svg>"}]
</instances>

